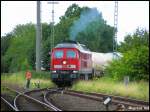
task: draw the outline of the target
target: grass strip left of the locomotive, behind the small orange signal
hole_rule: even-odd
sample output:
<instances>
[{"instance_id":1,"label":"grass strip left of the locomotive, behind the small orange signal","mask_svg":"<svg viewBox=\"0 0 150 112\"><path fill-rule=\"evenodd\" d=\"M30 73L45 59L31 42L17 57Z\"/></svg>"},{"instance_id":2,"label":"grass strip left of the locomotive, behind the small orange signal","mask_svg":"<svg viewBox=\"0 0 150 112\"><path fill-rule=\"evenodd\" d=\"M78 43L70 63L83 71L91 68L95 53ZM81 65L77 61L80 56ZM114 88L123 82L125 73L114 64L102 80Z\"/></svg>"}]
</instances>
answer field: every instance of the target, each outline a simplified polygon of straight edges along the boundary
<instances>
[{"instance_id":1,"label":"grass strip left of the locomotive, behind the small orange signal","mask_svg":"<svg viewBox=\"0 0 150 112\"><path fill-rule=\"evenodd\" d=\"M35 83L40 82L40 88L47 88L47 87L54 87L55 84L52 83L50 79L50 74L46 72L38 72L32 71L32 78L30 81L30 88L37 88ZM26 85L26 78L25 72L18 72L18 73L9 73L9 74L2 74L1 75L1 83L9 83L15 84L20 87L25 87Z\"/></svg>"}]
</instances>

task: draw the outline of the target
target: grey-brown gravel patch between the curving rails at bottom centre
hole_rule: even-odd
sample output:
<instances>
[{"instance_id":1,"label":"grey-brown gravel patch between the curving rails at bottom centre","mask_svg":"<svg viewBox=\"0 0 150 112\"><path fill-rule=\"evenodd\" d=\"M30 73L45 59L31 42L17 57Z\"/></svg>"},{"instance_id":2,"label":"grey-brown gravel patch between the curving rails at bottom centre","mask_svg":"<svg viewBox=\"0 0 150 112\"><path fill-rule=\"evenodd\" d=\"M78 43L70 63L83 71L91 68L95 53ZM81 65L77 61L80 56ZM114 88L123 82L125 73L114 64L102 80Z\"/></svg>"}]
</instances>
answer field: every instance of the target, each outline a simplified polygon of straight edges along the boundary
<instances>
[{"instance_id":1,"label":"grey-brown gravel patch between the curving rails at bottom centre","mask_svg":"<svg viewBox=\"0 0 150 112\"><path fill-rule=\"evenodd\" d=\"M63 111L103 111L105 106L93 99L66 94L66 91L49 91L46 95L48 101L52 102ZM110 106L110 110L116 109L115 105Z\"/></svg>"}]
</instances>

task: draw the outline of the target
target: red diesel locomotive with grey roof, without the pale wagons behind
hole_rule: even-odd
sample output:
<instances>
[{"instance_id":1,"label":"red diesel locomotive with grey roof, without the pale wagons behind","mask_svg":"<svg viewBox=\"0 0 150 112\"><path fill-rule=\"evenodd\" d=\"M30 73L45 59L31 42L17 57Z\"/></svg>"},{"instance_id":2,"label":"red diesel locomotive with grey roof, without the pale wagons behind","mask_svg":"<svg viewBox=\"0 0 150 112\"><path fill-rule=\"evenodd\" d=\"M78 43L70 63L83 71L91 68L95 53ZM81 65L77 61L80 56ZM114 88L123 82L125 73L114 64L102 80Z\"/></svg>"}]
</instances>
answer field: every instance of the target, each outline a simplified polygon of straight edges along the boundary
<instances>
[{"instance_id":1,"label":"red diesel locomotive with grey roof, without the pale wagons behind","mask_svg":"<svg viewBox=\"0 0 150 112\"><path fill-rule=\"evenodd\" d=\"M64 41L52 49L51 78L57 85L92 77L92 53L75 41Z\"/></svg>"}]
</instances>

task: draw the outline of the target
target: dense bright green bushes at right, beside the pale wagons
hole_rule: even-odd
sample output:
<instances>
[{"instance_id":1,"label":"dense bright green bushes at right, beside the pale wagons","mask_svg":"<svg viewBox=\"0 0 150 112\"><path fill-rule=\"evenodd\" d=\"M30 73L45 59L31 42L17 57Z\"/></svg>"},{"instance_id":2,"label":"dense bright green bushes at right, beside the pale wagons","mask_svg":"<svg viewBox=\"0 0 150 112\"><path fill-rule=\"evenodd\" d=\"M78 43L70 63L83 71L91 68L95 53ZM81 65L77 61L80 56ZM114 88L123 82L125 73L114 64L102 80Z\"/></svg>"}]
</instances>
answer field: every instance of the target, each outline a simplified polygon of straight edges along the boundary
<instances>
[{"instance_id":1,"label":"dense bright green bushes at right, beside the pale wagons","mask_svg":"<svg viewBox=\"0 0 150 112\"><path fill-rule=\"evenodd\" d=\"M137 29L133 35L128 35L120 45L123 57L114 60L106 69L106 75L114 80L122 80L129 76L130 80L149 80L149 34Z\"/></svg>"}]
</instances>

